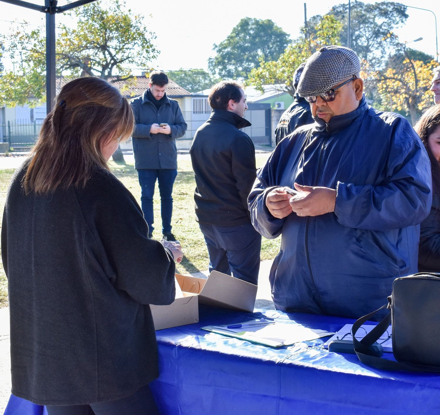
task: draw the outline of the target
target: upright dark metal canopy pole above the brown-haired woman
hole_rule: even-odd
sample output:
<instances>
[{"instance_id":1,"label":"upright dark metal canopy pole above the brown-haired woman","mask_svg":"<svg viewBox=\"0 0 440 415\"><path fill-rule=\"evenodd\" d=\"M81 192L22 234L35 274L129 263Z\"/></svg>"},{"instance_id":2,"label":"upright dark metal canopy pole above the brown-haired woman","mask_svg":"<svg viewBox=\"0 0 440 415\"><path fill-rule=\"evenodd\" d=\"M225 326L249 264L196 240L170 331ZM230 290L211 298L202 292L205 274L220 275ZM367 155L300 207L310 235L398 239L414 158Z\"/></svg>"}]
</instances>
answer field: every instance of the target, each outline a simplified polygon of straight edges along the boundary
<instances>
[{"instance_id":1,"label":"upright dark metal canopy pole above the brown-haired woman","mask_svg":"<svg viewBox=\"0 0 440 415\"><path fill-rule=\"evenodd\" d=\"M55 103L55 7L57 1L44 0L46 11L46 111L49 114Z\"/></svg>"}]
</instances>

